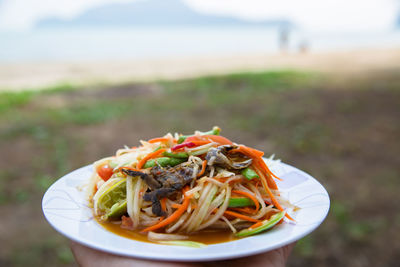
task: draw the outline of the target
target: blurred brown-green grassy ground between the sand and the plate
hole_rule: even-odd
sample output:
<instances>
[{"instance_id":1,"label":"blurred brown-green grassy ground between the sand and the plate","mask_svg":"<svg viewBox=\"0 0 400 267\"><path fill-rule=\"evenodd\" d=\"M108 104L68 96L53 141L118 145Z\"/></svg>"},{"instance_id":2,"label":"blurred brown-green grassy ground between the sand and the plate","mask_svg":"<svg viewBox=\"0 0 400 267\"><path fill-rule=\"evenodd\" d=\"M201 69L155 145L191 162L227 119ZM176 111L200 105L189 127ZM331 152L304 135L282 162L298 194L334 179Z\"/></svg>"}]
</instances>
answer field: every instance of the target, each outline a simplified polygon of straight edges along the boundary
<instances>
[{"instance_id":1,"label":"blurred brown-green grassy ground between the sand and the plate","mask_svg":"<svg viewBox=\"0 0 400 267\"><path fill-rule=\"evenodd\" d=\"M330 192L326 222L299 241L290 266L390 266L400 255L399 73L283 70L0 93L0 212L12 214L1 222L0 265L75 266L41 215L41 197L60 176L139 139L219 125Z\"/></svg>"}]
</instances>

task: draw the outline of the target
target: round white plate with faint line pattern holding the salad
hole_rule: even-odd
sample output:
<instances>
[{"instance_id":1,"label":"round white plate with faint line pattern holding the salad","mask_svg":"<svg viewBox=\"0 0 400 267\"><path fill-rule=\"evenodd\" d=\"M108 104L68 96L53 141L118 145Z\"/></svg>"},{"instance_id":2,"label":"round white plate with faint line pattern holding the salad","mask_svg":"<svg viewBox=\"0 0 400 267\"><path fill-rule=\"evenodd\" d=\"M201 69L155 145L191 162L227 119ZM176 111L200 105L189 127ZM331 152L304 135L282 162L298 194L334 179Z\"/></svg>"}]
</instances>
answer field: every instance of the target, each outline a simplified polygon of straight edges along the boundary
<instances>
[{"instance_id":1,"label":"round white plate with faint line pattern holding the salad","mask_svg":"<svg viewBox=\"0 0 400 267\"><path fill-rule=\"evenodd\" d=\"M42 209L47 221L61 234L88 247L113 254L170 261L211 261L239 258L292 243L315 230L329 210L329 195L313 177L284 163L272 171L283 179L278 187L301 209L291 213L296 223L285 222L270 231L243 239L188 248L135 241L105 230L93 219L85 193L78 187L89 179L91 165L56 181L45 193Z\"/></svg>"}]
</instances>

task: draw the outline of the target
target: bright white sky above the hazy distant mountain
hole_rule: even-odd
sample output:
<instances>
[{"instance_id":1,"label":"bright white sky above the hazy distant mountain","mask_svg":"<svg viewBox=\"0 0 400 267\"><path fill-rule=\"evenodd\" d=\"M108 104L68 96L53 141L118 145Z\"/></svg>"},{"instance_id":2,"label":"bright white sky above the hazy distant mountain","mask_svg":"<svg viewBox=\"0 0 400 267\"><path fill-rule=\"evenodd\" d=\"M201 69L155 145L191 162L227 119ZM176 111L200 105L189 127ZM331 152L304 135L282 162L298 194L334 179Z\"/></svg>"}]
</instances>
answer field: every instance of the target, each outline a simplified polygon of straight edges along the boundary
<instances>
[{"instance_id":1,"label":"bright white sky above the hazy distant mountain","mask_svg":"<svg viewBox=\"0 0 400 267\"><path fill-rule=\"evenodd\" d=\"M0 0L0 30L26 30L46 17L71 19L94 7L134 1L145 0ZM310 32L387 31L400 16L400 0L182 1L203 14L288 19Z\"/></svg>"}]
</instances>

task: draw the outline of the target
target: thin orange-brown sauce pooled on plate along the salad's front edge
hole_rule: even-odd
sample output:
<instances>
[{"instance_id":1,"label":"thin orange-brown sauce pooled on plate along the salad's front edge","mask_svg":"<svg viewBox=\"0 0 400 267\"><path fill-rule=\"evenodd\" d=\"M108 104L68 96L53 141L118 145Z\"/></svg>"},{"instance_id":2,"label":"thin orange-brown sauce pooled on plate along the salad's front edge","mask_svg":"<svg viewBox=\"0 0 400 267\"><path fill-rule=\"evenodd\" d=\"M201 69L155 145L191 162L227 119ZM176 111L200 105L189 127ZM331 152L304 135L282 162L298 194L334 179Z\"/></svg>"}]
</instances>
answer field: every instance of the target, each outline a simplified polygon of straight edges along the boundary
<instances>
[{"instance_id":1,"label":"thin orange-brown sauce pooled on plate along the salad's front edge","mask_svg":"<svg viewBox=\"0 0 400 267\"><path fill-rule=\"evenodd\" d=\"M132 231L128 229L121 228L120 223L112 223L112 222L102 222L96 218L96 221L104 227L106 230L117 234L119 236L123 236L129 239L133 239L136 241L141 242L148 242L148 243L157 243L152 242L147 239L147 234L141 234L140 231ZM204 230L198 233L190 234L189 239L185 239L188 241L195 241L204 243L207 245L217 244L217 243L224 243L236 240L236 238L232 231L230 230Z\"/></svg>"}]
</instances>

